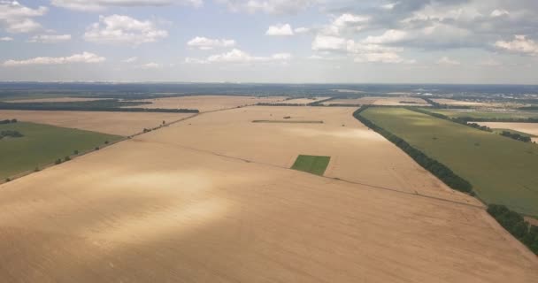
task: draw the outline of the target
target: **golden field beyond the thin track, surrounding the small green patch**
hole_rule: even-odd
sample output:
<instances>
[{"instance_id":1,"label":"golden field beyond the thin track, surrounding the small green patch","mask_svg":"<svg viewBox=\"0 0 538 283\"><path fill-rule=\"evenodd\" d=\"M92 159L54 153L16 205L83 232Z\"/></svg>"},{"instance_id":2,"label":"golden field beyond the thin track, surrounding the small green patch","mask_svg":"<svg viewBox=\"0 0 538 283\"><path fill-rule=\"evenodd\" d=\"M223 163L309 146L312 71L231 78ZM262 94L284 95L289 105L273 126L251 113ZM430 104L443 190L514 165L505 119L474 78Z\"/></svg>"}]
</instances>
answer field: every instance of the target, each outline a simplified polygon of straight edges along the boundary
<instances>
[{"instance_id":1,"label":"golden field beyond the thin track, surrounding the small green patch","mask_svg":"<svg viewBox=\"0 0 538 283\"><path fill-rule=\"evenodd\" d=\"M360 124L353 111L350 107L253 106L199 115L171 126L173 131L158 131L155 139L282 168L290 168L300 154L331 157L325 172L329 177L480 204L446 187L392 143ZM281 117L324 123L251 122ZM136 140L145 142L146 137Z\"/></svg>"}]
</instances>

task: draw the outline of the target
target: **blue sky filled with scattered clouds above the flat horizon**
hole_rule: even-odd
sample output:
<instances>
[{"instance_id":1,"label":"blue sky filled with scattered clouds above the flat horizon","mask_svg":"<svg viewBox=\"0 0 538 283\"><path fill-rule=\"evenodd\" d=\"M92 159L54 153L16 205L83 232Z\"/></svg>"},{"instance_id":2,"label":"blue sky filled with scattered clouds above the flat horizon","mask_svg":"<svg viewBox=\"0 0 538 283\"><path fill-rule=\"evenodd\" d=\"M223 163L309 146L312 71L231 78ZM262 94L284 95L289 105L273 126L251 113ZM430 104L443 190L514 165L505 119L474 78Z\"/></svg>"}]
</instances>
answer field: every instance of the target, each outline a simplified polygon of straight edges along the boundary
<instances>
[{"instance_id":1,"label":"blue sky filled with scattered clouds above the flat horizon","mask_svg":"<svg viewBox=\"0 0 538 283\"><path fill-rule=\"evenodd\" d=\"M538 84L536 0L0 0L2 81Z\"/></svg>"}]
</instances>

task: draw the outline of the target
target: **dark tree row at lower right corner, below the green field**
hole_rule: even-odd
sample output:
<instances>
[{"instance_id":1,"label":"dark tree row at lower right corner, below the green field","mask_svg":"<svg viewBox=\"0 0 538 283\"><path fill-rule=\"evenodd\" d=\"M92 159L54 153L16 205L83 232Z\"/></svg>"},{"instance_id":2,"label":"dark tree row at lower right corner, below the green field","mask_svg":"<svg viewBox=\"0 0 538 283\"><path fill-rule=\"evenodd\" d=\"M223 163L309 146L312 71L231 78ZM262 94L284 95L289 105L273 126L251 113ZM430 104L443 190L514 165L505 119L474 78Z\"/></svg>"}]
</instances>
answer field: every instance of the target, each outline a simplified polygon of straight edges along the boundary
<instances>
[{"instance_id":1,"label":"dark tree row at lower right corner, below the green field","mask_svg":"<svg viewBox=\"0 0 538 283\"><path fill-rule=\"evenodd\" d=\"M504 205L488 205L488 213L516 239L538 255L538 226L529 225L518 212Z\"/></svg>"}]
</instances>

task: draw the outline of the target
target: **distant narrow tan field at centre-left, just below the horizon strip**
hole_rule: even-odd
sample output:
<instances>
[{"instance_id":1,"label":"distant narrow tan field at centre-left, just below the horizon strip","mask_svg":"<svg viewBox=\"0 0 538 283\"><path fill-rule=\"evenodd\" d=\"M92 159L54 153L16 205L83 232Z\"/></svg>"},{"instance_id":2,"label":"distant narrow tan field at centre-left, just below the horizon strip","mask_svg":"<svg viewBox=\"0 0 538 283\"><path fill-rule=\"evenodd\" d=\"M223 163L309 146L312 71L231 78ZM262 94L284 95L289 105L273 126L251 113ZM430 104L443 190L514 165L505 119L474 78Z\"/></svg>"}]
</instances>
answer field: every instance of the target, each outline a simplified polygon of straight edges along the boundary
<instances>
[{"instance_id":1,"label":"distant narrow tan field at centre-left, just below the horizon strip","mask_svg":"<svg viewBox=\"0 0 538 283\"><path fill-rule=\"evenodd\" d=\"M179 96L156 99L139 100L151 102L143 105L143 108L162 109L197 109L201 112L230 109L239 106L254 105L257 103L281 102L287 97L284 96ZM138 106L133 106L138 107Z\"/></svg>"}]
</instances>

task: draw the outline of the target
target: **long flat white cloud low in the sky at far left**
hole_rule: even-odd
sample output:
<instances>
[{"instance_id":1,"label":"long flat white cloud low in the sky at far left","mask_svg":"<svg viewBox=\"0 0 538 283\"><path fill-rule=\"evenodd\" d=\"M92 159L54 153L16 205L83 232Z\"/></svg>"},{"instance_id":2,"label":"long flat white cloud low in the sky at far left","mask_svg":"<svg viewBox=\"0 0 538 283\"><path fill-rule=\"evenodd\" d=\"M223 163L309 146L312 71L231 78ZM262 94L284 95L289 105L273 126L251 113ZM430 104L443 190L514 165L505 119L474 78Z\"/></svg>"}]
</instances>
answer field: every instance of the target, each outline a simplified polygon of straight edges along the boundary
<instances>
[{"instance_id":1,"label":"long flat white cloud low in the sky at far left","mask_svg":"<svg viewBox=\"0 0 538 283\"><path fill-rule=\"evenodd\" d=\"M94 53L82 52L69 57L35 57L27 60L7 60L5 66L20 66L20 65L65 65L72 63L93 64L101 63L106 60L105 57L97 56Z\"/></svg>"}]
</instances>

